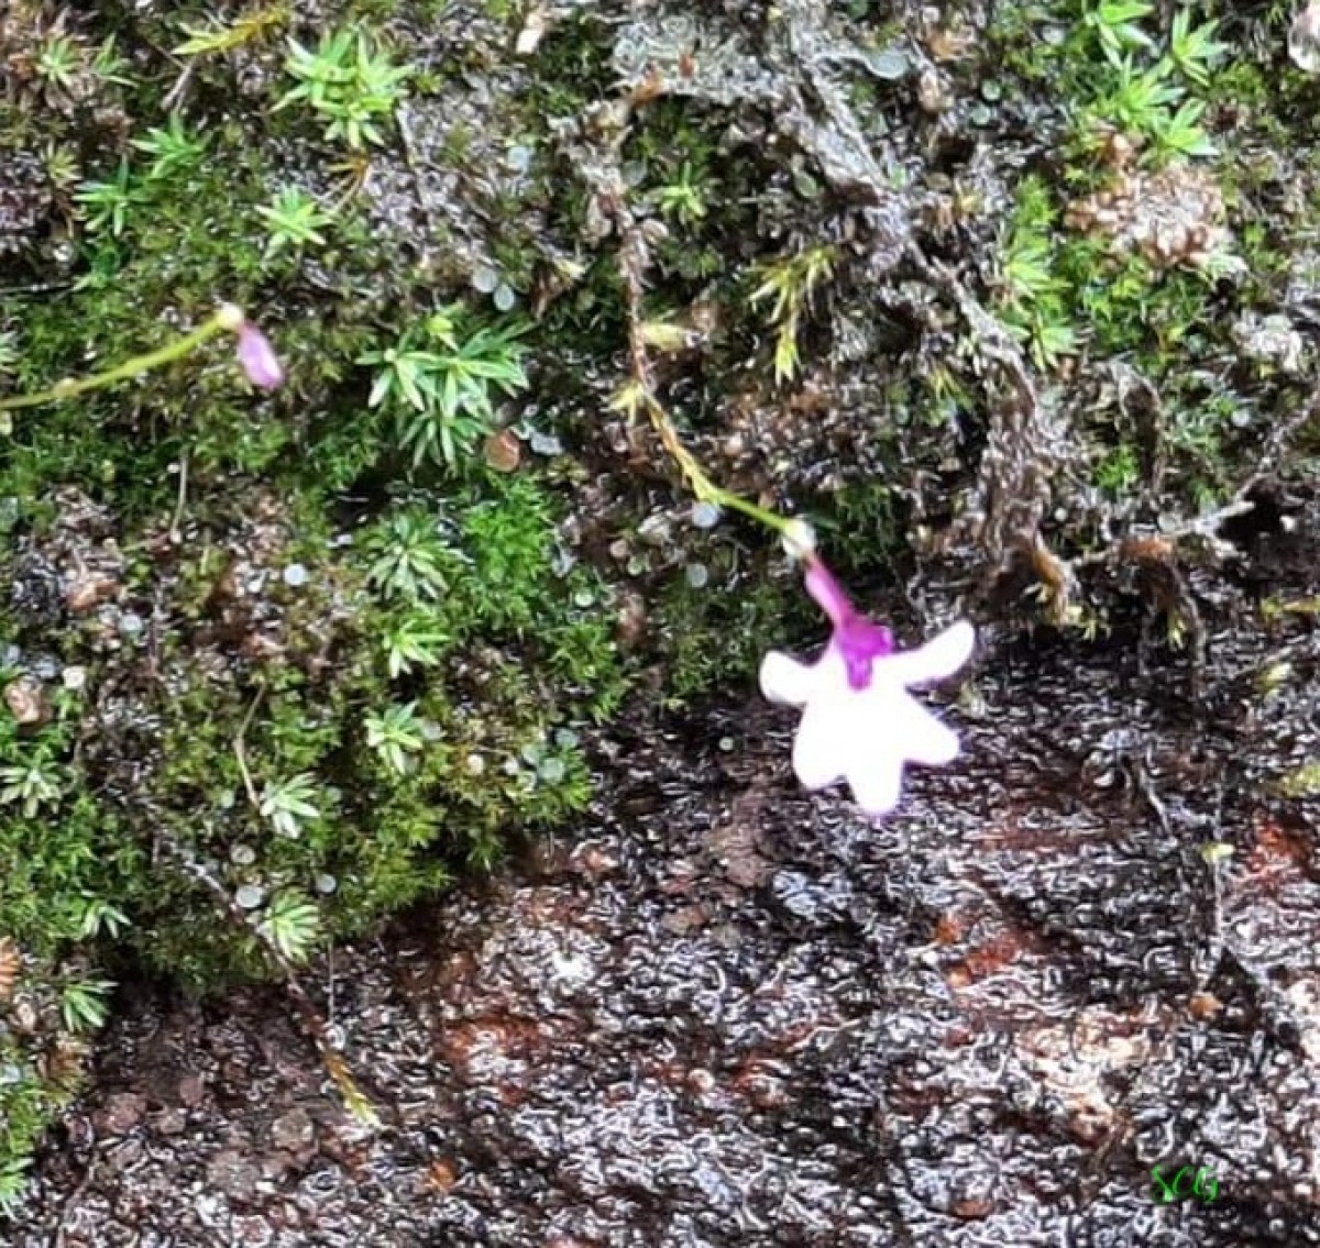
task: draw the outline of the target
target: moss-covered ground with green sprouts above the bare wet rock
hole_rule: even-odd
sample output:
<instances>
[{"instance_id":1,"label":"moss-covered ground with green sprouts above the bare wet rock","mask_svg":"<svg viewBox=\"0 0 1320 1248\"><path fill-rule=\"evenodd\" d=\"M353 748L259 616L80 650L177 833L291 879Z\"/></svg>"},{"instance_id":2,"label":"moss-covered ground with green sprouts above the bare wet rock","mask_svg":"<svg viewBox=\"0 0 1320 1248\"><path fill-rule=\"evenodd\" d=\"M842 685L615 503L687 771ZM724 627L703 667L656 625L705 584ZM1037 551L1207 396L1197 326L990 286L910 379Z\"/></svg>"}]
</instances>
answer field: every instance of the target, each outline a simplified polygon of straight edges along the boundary
<instances>
[{"instance_id":1,"label":"moss-covered ground with green sprouts above the bare wet rock","mask_svg":"<svg viewBox=\"0 0 1320 1248\"><path fill-rule=\"evenodd\" d=\"M810 621L611 404L630 340L917 616L1196 641L1313 489L1287 7L714 8L5 7L0 394L222 299L288 380L215 340L5 430L0 1204L115 982L280 974L572 827L593 724Z\"/></svg>"}]
</instances>

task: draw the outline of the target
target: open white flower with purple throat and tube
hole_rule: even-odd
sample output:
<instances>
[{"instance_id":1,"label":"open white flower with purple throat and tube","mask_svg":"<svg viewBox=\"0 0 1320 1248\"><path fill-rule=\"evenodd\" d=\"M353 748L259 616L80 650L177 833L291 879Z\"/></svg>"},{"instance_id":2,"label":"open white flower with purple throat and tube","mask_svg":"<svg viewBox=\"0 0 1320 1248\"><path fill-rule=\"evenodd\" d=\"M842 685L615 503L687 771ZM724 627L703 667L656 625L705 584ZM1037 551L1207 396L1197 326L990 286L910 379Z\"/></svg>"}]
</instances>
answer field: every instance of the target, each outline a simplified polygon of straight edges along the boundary
<instances>
[{"instance_id":1,"label":"open white flower with purple throat and tube","mask_svg":"<svg viewBox=\"0 0 1320 1248\"><path fill-rule=\"evenodd\" d=\"M833 635L814 664L772 650L760 665L760 687L772 702L803 708L793 770L808 789L846 780L866 814L888 814L908 763L941 766L958 756L953 731L908 690L962 668L975 632L960 621L915 650L895 650L894 635L854 609L814 553L805 553L805 563L807 590Z\"/></svg>"}]
</instances>

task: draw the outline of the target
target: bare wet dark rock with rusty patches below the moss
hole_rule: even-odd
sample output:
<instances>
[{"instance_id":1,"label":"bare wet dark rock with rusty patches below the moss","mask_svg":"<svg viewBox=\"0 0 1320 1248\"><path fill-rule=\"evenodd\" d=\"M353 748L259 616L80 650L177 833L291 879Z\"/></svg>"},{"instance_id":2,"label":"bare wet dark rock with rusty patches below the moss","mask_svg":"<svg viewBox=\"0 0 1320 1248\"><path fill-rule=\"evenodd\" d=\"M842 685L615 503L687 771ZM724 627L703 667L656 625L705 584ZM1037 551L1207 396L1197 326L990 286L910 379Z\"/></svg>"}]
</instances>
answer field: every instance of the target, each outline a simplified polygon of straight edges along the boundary
<instances>
[{"instance_id":1,"label":"bare wet dark rock with rusty patches below the moss","mask_svg":"<svg viewBox=\"0 0 1320 1248\"><path fill-rule=\"evenodd\" d=\"M1205 623L987 633L875 826L756 704L615 730L581 839L309 976L384 1129L277 992L148 993L11 1243L1320 1243L1320 636Z\"/></svg>"}]
</instances>

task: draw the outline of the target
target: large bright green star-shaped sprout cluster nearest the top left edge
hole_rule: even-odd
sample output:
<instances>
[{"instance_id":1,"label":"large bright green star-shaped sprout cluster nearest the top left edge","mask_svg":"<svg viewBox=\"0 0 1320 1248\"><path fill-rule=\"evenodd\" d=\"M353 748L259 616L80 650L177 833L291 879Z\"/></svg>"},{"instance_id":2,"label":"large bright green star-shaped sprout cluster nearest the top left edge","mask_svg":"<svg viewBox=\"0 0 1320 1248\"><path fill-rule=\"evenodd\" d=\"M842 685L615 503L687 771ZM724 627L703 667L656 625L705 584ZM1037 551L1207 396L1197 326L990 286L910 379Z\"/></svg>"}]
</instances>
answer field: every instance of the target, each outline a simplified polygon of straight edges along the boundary
<instances>
[{"instance_id":1,"label":"large bright green star-shaped sprout cluster nearest the top left edge","mask_svg":"<svg viewBox=\"0 0 1320 1248\"><path fill-rule=\"evenodd\" d=\"M315 51L289 40L284 67L297 86L275 107L305 102L326 123L326 139L350 148L384 142L376 121L393 113L412 75L411 66L392 65L352 28L323 34Z\"/></svg>"}]
</instances>

